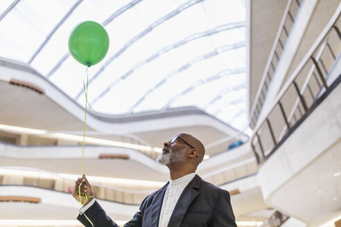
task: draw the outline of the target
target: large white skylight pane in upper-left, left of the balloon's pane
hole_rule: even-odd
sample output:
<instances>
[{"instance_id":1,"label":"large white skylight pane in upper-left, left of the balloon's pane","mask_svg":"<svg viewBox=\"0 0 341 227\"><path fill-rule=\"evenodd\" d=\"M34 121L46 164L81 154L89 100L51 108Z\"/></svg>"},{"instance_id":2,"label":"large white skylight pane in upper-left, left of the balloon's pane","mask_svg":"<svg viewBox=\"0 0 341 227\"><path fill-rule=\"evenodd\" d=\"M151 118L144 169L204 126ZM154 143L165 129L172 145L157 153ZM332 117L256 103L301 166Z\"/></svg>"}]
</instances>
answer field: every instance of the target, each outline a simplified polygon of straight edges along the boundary
<instances>
[{"instance_id":1,"label":"large white skylight pane in upper-left, left of the balloon's pane","mask_svg":"<svg viewBox=\"0 0 341 227\"><path fill-rule=\"evenodd\" d=\"M19 1L0 23L1 55L28 62L69 6L60 1Z\"/></svg>"}]
</instances>

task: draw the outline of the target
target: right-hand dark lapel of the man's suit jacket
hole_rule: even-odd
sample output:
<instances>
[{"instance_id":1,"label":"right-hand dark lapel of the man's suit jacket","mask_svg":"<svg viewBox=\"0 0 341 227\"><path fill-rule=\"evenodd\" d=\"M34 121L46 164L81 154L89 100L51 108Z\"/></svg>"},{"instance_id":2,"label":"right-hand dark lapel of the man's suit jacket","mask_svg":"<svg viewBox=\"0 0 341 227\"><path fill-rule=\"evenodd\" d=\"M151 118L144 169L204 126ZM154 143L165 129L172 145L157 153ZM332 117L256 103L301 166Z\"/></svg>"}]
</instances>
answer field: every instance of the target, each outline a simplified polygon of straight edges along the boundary
<instances>
[{"instance_id":1,"label":"right-hand dark lapel of the man's suit jacket","mask_svg":"<svg viewBox=\"0 0 341 227\"><path fill-rule=\"evenodd\" d=\"M182 219L184 219L184 215L186 215L189 206L199 194L197 189L200 188L200 182L200 176L195 175L193 180L189 182L189 185L186 186L179 200L177 201L177 204L175 205L168 226L180 227Z\"/></svg>"}]
</instances>

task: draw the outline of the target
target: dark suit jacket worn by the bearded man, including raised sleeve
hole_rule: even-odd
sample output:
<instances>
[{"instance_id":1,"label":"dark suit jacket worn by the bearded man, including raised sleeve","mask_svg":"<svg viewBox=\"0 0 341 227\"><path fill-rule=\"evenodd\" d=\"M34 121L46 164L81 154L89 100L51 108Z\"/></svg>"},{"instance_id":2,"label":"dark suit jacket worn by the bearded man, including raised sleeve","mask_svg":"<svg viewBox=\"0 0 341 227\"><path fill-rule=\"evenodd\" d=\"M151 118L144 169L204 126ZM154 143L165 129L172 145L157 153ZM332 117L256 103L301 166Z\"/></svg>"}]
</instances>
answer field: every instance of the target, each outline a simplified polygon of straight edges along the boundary
<instances>
[{"instance_id":1,"label":"dark suit jacket worn by the bearded man, including raised sleeve","mask_svg":"<svg viewBox=\"0 0 341 227\"><path fill-rule=\"evenodd\" d=\"M146 197L141 203L140 211L124 226L159 226L159 216L167 185L168 183ZM110 217L107 217L97 201L85 211L85 215L89 217L94 227L119 227ZM79 215L77 219L84 226L92 227L85 215ZM236 227L229 192L203 181L200 176L195 175L177 201L168 226Z\"/></svg>"}]
</instances>

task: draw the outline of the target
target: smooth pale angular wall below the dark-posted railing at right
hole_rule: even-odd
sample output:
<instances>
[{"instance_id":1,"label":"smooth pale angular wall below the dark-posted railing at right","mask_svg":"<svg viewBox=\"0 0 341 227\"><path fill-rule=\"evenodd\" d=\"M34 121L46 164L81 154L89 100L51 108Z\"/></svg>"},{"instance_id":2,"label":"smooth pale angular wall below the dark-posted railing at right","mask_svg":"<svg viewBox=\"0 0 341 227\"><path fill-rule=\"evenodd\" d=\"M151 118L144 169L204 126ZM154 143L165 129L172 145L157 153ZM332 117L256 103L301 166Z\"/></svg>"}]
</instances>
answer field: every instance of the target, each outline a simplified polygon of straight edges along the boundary
<instances>
[{"instance_id":1,"label":"smooth pale angular wall below the dark-posted railing at right","mask_svg":"<svg viewBox=\"0 0 341 227\"><path fill-rule=\"evenodd\" d=\"M265 201L309 226L340 215L341 85L259 170ZM336 199L335 199L336 198Z\"/></svg>"}]
</instances>

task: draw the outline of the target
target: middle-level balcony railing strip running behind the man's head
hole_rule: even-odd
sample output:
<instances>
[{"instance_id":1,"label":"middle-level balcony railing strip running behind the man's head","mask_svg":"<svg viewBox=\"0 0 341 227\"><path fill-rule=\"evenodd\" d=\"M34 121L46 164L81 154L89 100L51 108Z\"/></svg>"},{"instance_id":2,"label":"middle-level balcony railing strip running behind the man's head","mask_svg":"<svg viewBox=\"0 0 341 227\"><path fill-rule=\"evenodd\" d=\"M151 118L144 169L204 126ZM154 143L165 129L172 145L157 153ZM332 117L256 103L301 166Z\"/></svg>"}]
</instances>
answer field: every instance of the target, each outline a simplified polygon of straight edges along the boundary
<instances>
[{"instance_id":1,"label":"middle-level balcony railing strip running behind the man's head","mask_svg":"<svg viewBox=\"0 0 341 227\"><path fill-rule=\"evenodd\" d=\"M82 131L65 131L53 132L47 131L46 134L25 134L26 144L20 145L22 147L51 147L51 146L81 146L82 145ZM110 147L125 147L137 150L141 154L157 159L161 154L161 145L163 141L160 141L160 147L152 147L149 143L141 138L132 134L114 134L103 133L98 131L87 131L85 138L86 146L110 146ZM0 144L19 145L22 134L20 133L8 133L0 128ZM62 136L62 137L61 137ZM62 145L58 141L62 140ZM243 138L243 140L241 140ZM204 159L206 160L210 156L228 152L229 145L236 142L245 143L247 136L244 134L236 134L214 141L208 144L206 147L207 154ZM116 145L115 145L116 143ZM121 145L120 145L121 144ZM80 148L81 149L81 148Z\"/></svg>"}]
</instances>

